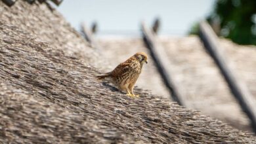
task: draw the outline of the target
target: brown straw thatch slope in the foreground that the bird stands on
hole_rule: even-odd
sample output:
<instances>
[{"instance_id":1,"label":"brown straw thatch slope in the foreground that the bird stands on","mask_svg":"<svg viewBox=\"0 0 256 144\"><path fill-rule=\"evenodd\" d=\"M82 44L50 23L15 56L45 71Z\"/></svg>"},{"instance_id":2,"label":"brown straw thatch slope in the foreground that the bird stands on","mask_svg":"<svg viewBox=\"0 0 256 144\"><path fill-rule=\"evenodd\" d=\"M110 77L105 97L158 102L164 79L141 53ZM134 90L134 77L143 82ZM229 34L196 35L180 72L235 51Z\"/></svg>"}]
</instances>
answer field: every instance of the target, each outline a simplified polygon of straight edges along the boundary
<instances>
[{"instance_id":1,"label":"brown straw thatch slope in the foreground that the bird stands on","mask_svg":"<svg viewBox=\"0 0 256 144\"><path fill-rule=\"evenodd\" d=\"M11 86L1 84L3 143L255 143L251 135L140 89L141 98L129 98L96 81L93 67L16 27L0 23L0 29L0 81Z\"/></svg>"}]
</instances>

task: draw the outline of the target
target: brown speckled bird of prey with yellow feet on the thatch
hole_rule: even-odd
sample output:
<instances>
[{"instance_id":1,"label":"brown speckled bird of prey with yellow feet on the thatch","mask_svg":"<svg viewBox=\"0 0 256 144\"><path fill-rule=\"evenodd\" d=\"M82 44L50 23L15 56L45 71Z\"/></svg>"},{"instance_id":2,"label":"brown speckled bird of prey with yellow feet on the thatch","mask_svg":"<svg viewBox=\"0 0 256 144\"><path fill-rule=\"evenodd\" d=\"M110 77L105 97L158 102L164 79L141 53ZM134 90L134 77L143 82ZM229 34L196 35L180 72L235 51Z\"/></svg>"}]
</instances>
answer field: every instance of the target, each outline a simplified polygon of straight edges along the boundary
<instances>
[{"instance_id":1,"label":"brown speckled bird of prey with yellow feet on the thatch","mask_svg":"<svg viewBox=\"0 0 256 144\"><path fill-rule=\"evenodd\" d=\"M125 90L127 92L127 96L139 97L139 95L133 94L133 87L145 62L148 63L148 56L146 53L137 52L125 62L117 65L113 71L97 76L97 78L112 82L119 90Z\"/></svg>"}]
</instances>

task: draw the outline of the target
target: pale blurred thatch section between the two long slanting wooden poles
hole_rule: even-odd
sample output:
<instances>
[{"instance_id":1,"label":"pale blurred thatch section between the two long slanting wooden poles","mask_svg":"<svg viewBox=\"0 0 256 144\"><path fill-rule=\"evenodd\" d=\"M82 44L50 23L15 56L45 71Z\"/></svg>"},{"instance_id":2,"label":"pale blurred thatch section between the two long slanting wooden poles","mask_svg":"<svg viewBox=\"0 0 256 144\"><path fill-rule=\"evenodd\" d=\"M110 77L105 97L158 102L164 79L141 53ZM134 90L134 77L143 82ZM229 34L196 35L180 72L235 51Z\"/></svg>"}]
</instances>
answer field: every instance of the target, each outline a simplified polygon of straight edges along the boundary
<instances>
[{"instance_id":1,"label":"pale blurred thatch section between the two long slanting wooden poles","mask_svg":"<svg viewBox=\"0 0 256 144\"><path fill-rule=\"evenodd\" d=\"M159 43L169 56L173 79L189 101L188 107L240 130L251 130L249 119L198 37L162 38Z\"/></svg>"}]
</instances>

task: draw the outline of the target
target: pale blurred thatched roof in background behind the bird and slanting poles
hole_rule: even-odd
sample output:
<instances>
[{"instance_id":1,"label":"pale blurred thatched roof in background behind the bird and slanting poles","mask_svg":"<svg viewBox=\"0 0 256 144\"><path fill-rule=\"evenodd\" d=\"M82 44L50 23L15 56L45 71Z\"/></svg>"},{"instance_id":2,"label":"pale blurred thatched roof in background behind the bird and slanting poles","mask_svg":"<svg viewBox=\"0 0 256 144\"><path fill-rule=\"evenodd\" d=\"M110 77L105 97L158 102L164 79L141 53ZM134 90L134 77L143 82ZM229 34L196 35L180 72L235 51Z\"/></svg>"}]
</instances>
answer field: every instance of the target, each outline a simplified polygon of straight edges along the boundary
<instances>
[{"instance_id":1,"label":"pale blurred thatched roof in background behind the bird and slanting poles","mask_svg":"<svg viewBox=\"0 0 256 144\"><path fill-rule=\"evenodd\" d=\"M110 67L114 67L125 58L129 58L136 51L148 52L142 39L138 38L101 38L98 43L100 44L100 51L112 64ZM204 50L198 37L159 37L158 43L161 45L159 48L163 48L169 56L165 58L171 63L170 67L167 68L171 69L171 77L177 82L182 96L186 99L187 107L202 111L204 115L218 118L240 130L251 130L249 119L240 109L236 99L233 98L217 65ZM241 70L244 71L244 76L247 76L246 80L250 82L248 86L255 88L256 84L252 76L255 75L253 73L256 71L256 62L254 62L255 58L251 58L254 56L253 51L255 49L248 48L248 46L245 49L243 49L245 46L234 48L234 44L224 39L222 44L224 45L223 48L229 50L226 53L236 59L236 62L247 63L240 64ZM236 52L236 50L244 53ZM245 60L242 57L243 54L248 56L249 60ZM255 71L253 72L252 69ZM144 66L138 86L152 90L153 94L158 96L169 98L169 93L161 81L160 74L156 71L154 62Z\"/></svg>"}]
</instances>

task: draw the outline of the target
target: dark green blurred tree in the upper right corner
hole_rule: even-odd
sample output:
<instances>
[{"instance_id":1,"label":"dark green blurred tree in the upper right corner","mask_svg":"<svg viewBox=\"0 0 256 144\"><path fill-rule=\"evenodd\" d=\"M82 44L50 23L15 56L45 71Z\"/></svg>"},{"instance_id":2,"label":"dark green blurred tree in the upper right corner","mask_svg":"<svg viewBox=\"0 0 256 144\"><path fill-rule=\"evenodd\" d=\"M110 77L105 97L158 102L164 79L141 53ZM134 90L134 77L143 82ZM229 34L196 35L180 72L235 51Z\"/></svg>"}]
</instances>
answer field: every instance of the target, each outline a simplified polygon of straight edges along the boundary
<instances>
[{"instance_id":1,"label":"dark green blurred tree in the upper right corner","mask_svg":"<svg viewBox=\"0 0 256 144\"><path fill-rule=\"evenodd\" d=\"M217 0L207 21L217 35L240 45L256 45L256 0ZM196 25L190 34L198 33Z\"/></svg>"}]
</instances>

